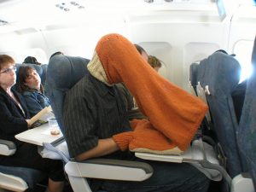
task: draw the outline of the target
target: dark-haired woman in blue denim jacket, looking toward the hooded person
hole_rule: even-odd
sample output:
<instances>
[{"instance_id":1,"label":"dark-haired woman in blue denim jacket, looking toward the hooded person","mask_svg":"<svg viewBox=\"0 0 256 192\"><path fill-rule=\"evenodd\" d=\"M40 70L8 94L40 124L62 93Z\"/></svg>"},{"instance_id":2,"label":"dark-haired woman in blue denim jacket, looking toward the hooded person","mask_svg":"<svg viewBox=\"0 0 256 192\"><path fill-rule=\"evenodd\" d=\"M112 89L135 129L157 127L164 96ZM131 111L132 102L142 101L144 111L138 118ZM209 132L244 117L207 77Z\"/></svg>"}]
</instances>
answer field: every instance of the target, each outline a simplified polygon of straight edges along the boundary
<instances>
[{"instance_id":1,"label":"dark-haired woman in blue denim jacket, looking toward the hooded person","mask_svg":"<svg viewBox=\"0 0 256 192\"><path fill-rule=\"evenodd\" d=\"M16 86L24 96L26 107L31 116L49 106L49 99L44 96L44 87L36 69L29 66L20 66Z\"/></svg>"}]
</instances>

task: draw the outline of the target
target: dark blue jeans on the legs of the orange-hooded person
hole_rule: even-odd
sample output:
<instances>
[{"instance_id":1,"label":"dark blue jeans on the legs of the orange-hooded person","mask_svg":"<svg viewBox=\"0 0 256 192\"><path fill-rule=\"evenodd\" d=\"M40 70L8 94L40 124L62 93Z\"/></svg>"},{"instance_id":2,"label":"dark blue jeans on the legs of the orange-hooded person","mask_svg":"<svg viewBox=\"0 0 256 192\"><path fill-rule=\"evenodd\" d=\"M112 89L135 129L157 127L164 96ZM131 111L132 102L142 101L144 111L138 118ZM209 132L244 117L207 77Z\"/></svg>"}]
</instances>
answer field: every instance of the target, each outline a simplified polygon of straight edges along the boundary
<instances>
[{"instance_id":1,"label":"dark blue jeans on the legs of the orange-hooded person","mask_svg":"<svg viewBox=\"0 0 256 192\"><path fill-rule=\"evenodd\" d=\"M113 181L102 182L101 189L108 192L207 192L209 179L188 163L133 160L146 162L154 173L143 182Z\"/></svg>"}]
</instances>

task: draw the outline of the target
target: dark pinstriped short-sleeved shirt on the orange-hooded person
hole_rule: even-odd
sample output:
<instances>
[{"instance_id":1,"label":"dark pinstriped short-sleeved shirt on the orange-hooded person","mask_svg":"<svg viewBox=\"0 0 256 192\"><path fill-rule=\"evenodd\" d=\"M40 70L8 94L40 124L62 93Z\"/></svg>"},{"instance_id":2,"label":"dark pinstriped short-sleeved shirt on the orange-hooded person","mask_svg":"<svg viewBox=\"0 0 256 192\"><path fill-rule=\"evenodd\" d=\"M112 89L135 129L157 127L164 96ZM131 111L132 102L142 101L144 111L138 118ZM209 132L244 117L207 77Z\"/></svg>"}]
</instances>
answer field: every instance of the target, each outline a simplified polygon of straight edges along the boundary
<instances>
[{"instance_id":1,"label":"dark pinstriped short-sleeved shirt on the orange-hooded person","mask_svg":"<svg viewBox=\"0 0 256 192\"><path fill-rule=\"evenodd\" d=\"M115 85L86 75L67 92L63 122L72 157L95 148L98 139L131 131L125 102Z\"/></svg>"}]
</instances>

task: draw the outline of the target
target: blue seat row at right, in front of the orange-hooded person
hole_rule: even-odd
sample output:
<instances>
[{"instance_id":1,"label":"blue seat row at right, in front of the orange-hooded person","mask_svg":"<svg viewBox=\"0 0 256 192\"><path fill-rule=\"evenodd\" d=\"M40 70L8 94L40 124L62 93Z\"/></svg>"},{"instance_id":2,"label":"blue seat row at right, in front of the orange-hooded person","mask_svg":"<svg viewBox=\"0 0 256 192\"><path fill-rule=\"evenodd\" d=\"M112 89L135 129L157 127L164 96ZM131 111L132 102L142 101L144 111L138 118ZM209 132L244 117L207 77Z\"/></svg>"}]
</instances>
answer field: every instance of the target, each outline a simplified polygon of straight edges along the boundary
<instances>
[{"instance_id":1,"label":"blue seat row at right, in front of the orange-hooded person","mask_svg":"<svg viewBox=\"0 0 256 192\"><path fill-rule=\"evenodd\" d=\"M255 57L255 45L253 56ZM255 61L253 62L255 65ZM217 51L190 66L190 86L196 96L207 102L209 113L203 121L203 135L213 138L218 161L228 179L223 191L255 191L255 76L247 79L247 90L237 120L232 92L239 86L241 67L233 55ZM247 150L245 150L247 149ZM248 156L250 157L248 159ZM254 175L253 175L254 174ZM254 185L253 185L254 183Z\"/></svg>"}]
</instances>

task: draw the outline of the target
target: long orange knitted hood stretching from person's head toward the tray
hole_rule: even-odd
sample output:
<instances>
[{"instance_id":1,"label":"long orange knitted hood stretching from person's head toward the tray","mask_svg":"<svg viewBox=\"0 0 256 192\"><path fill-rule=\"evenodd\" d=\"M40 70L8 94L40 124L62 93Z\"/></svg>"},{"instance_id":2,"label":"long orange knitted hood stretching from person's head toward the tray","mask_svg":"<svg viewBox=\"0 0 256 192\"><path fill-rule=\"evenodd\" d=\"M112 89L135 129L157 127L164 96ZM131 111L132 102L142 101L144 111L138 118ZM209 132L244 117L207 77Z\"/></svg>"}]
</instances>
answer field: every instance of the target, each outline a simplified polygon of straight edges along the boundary
<instances>
[{"instance_id":1,"label":"long orange knitted hood stretching from person's head toward the tray","mask_svg":"<svg viewBox=\"0 0 256 192\"><path fill-rule=\"evenodd\" d=\"M102 37L96 45L96 54L108 84L124 82L153 127L185 150L207 112L207 105L162 78L135 46L119 34Z\"/></svg>"}]
</instances>

